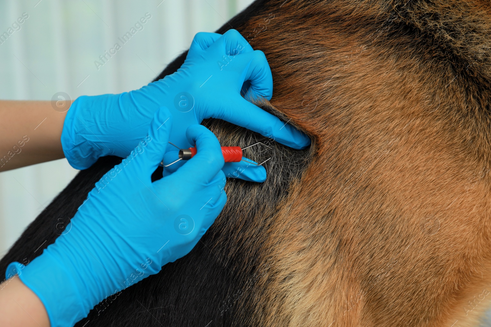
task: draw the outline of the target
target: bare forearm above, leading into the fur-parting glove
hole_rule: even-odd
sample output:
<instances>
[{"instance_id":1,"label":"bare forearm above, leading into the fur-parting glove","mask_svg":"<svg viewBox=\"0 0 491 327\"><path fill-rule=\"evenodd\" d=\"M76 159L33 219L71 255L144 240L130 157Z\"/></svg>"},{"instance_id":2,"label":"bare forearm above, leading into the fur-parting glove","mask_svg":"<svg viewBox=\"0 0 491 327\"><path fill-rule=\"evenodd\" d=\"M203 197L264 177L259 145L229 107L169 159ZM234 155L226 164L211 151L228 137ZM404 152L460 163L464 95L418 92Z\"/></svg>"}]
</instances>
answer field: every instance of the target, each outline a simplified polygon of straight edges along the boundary
<instances>
[{"instance_id":1,"label":"bare forearm above, leading into the fur-parting glove","mask_svg":"<svg viewBox=\"0 0 491 327\"><path fill-rule=\"evenodd\" d=\"M70 104L57 111L51 101L0 100L0 172L63 158L60 111Z\"/></svg>"}]
</instances>

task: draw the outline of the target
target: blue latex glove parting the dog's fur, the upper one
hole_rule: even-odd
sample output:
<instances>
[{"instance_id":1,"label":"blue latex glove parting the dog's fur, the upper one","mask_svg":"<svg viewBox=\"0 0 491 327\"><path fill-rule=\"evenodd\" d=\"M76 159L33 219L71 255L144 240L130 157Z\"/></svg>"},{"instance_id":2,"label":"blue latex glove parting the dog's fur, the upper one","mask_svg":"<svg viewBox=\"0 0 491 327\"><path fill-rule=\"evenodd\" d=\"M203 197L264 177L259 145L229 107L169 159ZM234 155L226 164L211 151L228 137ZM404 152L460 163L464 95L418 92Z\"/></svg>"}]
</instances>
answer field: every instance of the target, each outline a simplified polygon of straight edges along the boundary
<instances>
[{"instance_id":1,"label":"blue latex glove parting the dog's fur, the upper one","mask_svg":"<svg viewBox=\"0 0 491 327\"><path fill-rule=\"evenodd\" d=\"M305 134L246 101L240 95L243 87L247 99L271 99L273 78L264 53L252 50L234 29L223 35L198 33L176 73L139 90L82 96L74 101L61 135L63 151L77 169L90 167L100 156L125 157L145 136L154 112L161 106L167 107L173 117L170 141L181 148L190 147L186 128L210 117L246 127L296 149L310 144ZM175 150L169 145L168 151ZM223 170L229 176L238 166L244 163L227 163ZM264 181L266 171L249 165L239 178Z\"/></svg>"}]
</instances>

